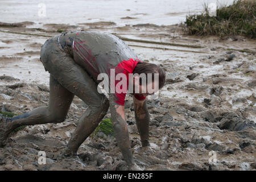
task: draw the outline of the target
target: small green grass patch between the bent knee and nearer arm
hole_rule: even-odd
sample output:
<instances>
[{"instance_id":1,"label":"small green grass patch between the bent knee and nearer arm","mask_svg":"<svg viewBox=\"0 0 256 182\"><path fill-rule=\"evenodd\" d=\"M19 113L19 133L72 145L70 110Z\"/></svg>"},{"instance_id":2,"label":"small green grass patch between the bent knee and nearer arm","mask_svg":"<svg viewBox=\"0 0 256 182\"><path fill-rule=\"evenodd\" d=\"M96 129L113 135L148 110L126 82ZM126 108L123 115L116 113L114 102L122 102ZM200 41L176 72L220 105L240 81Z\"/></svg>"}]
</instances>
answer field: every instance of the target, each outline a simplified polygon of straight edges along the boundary
<instances>
[{"instance_id":1,"label":"small green grass patch between the bent knee and nearer arm","mask_svg":"<svg viewBox=\"0 0 256 182\"><path fill-rule=\"evenodd\" d=\"M113 135L112 121L109 118L106 118L100 122L100 125L92 133L92 138L97 137L99 131L102 131L105 135Z\"/></svg>"}]
</instances>

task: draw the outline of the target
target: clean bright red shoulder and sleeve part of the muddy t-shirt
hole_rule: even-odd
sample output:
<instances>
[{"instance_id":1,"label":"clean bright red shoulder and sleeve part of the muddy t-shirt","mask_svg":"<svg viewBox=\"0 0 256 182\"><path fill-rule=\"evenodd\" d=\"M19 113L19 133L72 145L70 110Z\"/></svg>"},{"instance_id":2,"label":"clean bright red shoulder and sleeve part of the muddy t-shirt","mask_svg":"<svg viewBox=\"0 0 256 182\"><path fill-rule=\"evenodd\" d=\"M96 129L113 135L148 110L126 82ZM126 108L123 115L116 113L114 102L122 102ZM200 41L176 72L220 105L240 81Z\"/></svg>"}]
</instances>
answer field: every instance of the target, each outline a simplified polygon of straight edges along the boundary
<instances>
[{"instance_id":1,"label":"clean bright red shoulder and sleeve part of the muddy t-shirt","mask_svg":"<svg viewBox=\"0 0 256 182\"><path fill-rule=\"evenodd\" d=\"M117 67L115 67L115 75L118 73L124 73L126 75L126 81L127 81L127 89L129 86L129 73L133 73L134 68L138 64L140 60L122 60L121 63L118 63ZM115 80L115 89L117 89L117 84L119 80ZM120 86L120 89L122 90L122 86ZM125 105L125 96L127 93L126 90L122 90L121 93L117 93L117 90L115 90L115 103L118 105ZM140 96L139 94L134 94L134 97L137 98L138 100L144 100L146 97Z\"/></svg>"}]
</instances>

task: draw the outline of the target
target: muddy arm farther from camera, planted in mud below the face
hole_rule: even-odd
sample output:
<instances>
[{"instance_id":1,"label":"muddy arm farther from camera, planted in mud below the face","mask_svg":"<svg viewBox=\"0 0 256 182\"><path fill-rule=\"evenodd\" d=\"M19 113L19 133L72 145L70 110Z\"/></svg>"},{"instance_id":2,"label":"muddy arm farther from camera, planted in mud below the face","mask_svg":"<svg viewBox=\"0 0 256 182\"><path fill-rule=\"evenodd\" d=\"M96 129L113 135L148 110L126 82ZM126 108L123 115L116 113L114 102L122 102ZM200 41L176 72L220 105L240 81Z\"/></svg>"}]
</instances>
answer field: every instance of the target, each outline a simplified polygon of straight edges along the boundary
<instances>
[{"instance_id":1,"label":"muddy arm farther from camera, planted in mud below the face","mask_svg":"<svg viewBox=\"0 0 256 182\"><path fill-rule=\"evenodd\" d=\"M148 114L146 100L140 101L133 96L133 103L136 124L139 131L139 135L141 136L142 147L150 146L150 143L148 141L150 115Z\"/></svg>"}]
</instances>

